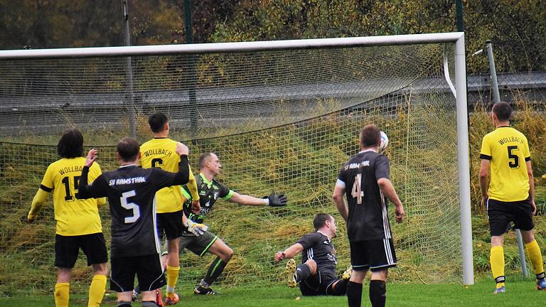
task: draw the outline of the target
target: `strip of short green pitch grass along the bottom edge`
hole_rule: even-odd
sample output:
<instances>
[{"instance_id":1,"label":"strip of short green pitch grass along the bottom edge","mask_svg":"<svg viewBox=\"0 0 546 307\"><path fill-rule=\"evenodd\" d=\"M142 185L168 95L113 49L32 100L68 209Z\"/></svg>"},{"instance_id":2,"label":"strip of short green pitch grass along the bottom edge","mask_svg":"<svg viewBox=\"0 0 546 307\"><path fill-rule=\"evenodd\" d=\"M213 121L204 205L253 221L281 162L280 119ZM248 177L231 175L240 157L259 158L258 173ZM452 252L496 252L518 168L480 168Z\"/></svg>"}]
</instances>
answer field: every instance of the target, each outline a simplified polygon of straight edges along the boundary
<instances>
[{"instance_id":1,"label":"strip of short green pitch grass along the bottom edge","mask_svg":"<svg viewBox=\"0 0 546 307\"><path fill-rule=\"evenodd\" d=\"M465 288L459 284L387 284L387 306L544 306L546 291L535 290L532 279L508 276L506 293L493 295L491 279L483 279ZM346 297L304 297L298 289L282 286L262 288L219 289L218 296L194 296L191 289L181 291L179 306L240 306L240 307L324 307L347 306ZM368 284L364 285L362 306L370 306ZM108 292L102 306L115 306L115 293ZM0 298L0 306L53 306L49 296L17 296ZM70 296L70 306L87 306L87 297ZM133 303L140 306L140 303Z\"/></svg>"}]
</instances>

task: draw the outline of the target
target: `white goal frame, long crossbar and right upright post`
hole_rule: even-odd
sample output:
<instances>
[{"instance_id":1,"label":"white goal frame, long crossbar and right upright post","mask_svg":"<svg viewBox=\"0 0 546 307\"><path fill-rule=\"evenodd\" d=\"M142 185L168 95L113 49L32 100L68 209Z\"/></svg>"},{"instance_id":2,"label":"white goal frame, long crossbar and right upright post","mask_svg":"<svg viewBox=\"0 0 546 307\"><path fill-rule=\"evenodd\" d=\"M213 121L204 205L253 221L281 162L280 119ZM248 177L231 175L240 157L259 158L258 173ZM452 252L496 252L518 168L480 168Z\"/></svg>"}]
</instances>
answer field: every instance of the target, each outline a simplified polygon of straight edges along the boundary
<instances>
[{"instance_id":1,"label":"white goal frame, long crossbar and right upright post","mask_svg":"<svg viewBox=\"0 0 546 307\"><path fill-rule=\"evenodd\" d=\"M459 201L461 209L461 243L463 284L473 284L473 255L471 232L471 198L469 168L469 129L466 99L466 58L464 33L428 33L402 36L374 36L358 38L323 38L293 41L259 41L241 43L204 43L193 45L146 45L104 48L59 48L42 50L2 50L1 60L45 58L131 57L140 55L173 55L195 53L240 53L263 50L291 50L314 48L347 48L380 45L413 45L429 43L454 44L454 75L449 80L449 68L444 61L446 82L454 87L456 97L457 161L459 170Z\"/></svg>"}]
</instances>

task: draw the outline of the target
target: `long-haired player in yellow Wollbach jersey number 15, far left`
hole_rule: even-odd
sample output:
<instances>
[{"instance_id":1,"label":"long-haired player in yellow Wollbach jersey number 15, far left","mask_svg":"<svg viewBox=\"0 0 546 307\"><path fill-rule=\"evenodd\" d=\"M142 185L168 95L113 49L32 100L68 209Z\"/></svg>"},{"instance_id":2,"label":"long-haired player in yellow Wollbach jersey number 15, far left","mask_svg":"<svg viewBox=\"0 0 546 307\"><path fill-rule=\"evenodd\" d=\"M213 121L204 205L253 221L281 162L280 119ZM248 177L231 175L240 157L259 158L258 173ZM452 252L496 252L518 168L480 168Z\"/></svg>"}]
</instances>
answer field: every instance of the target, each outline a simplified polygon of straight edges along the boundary
<instances>
[{"instance_id":1,"label":"long-haired player in yellow Wollbach jersey number 15, far left","mask_svg":"<svg viewBox=\"0 0 546 307\"><path fill-rule=\"evenodd\" d=\"M38 216L49 193L53 192L53 208L57 230L55 235L55 306L68 306L70 278L80 250L87 257L87 265L93 267L94 276L89 289L87 306L100 306L105 295L108 255L98 206L105 204L105 198L79 200L75 198L78 179L85 163L83 136L80 131L70 129L63 134L57 145L61 157L48 166L38 192L32 201L27 222ZM89 179L100 176L100 166L90 168Z\"/></svg>"}]
</instances>

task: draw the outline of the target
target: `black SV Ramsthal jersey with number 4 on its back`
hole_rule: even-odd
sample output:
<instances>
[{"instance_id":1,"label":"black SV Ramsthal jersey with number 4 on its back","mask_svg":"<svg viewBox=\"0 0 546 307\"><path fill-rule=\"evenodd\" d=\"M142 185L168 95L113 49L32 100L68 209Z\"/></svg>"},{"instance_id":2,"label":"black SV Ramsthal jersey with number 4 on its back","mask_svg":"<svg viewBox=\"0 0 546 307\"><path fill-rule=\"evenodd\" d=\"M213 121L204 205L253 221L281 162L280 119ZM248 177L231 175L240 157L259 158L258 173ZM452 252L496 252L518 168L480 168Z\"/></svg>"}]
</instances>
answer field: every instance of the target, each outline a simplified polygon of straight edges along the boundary
<instances>
[{"instance_id":1,"label":"black SV Ramsthal jersey with number 4 on its back","mask_svg":"<svg viewBox=\"0 0 546 307\"><path fill-rule=\"evenodd\" d=\"M380 178L389 176L388 158L375 151L360 151L341 169L339 179L346 185L351 241L391 237L387 202L378 185Z\"/></svg>"}]
</instances>

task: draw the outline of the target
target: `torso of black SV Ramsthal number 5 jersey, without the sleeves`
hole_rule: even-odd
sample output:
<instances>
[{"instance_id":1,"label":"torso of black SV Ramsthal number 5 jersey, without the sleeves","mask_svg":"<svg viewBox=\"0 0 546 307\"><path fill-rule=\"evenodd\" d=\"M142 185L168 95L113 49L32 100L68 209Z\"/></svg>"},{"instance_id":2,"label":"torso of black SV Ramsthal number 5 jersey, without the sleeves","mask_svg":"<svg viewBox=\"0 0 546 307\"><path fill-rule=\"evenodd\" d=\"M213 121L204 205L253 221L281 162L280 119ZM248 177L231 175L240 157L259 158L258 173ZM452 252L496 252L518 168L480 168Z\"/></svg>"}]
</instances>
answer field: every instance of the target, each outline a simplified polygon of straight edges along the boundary
<instances>
[{"instance_id":1,"label":"torso of black SV Ramsthal number 5 jersey, without the sleeves","mask_svg":"<svg viewBox=\"0 0 546 307\"><path fill-rule=\"evenodd\" d=\"M103 174L112 215L112 257L159 253L156 230L154 169L122 166Z\"/></svg>"}]
</instances>

